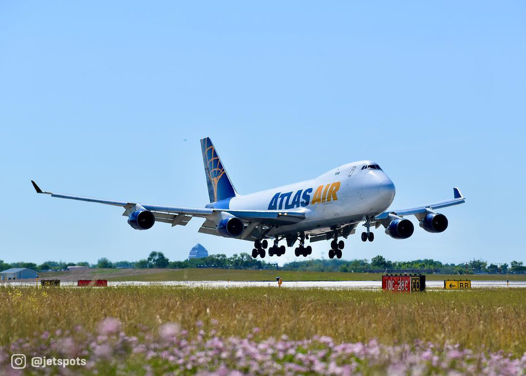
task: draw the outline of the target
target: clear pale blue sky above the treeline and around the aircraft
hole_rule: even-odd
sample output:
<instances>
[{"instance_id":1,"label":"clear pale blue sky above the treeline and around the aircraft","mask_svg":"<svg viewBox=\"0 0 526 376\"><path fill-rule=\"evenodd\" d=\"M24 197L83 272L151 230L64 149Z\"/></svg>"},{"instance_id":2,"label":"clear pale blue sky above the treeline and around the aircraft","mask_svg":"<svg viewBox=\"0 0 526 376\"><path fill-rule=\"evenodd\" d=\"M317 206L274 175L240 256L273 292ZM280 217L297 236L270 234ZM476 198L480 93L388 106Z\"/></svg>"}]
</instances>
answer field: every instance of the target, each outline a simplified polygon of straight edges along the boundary
<instances>
[{"instance_id":1,"label":"clear pale blue sky above the treeline and around the aircraft","mask_svg":"<svg viewBox=\"0 0 526 376\"><path fill-rule=\"evenodd\" d=\"M199 219L135 231L119 208L36 195L29 182L204 206L199 139L210 136L241 194L373 159L395 182L395 209L453 186L466 196L443 210L446 232L354 235L346 259L526 261L525 7L1 2L0 259L182 260L197 242L249 252L197 233Z\"/></svg>"}]
</instances>

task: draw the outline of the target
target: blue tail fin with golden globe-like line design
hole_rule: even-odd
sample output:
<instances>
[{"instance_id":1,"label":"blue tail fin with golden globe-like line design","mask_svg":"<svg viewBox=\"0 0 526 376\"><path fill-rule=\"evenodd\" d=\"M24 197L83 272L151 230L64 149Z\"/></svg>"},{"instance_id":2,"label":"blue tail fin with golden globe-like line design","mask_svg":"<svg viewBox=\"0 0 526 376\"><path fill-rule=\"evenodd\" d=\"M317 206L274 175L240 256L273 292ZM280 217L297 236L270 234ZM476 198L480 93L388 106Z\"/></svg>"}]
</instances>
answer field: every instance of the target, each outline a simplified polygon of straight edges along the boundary
<instances>
[{"instance_id":1,"label":"blue tail fin with golden globe-like line design","mask_svg":"<svg viewBox=\"0 0 526 376\"><path fill-rule=\"evenodd\" d=\"M210 202L225 200L237 195L236 189L221 163L214 144L209 137L201 139L201 151L205 164L206 184Z\"/></svg>"}]
</instances>

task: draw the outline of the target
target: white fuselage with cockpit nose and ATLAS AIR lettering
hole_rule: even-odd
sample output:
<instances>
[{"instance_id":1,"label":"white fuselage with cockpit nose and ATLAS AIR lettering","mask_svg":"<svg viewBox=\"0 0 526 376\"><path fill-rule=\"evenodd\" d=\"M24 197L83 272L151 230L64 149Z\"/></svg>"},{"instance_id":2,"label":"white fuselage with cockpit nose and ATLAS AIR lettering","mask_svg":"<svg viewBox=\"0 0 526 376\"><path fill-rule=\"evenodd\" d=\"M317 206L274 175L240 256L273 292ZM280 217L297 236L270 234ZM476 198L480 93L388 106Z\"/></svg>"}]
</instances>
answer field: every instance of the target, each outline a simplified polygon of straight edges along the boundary
<instances>
[{"instance_id":1,"label":"white fuselage with cockpit nose and ATLAS AIR lettering","mask_svg":"<svg viewBox=\"0 0 526 376\"><path fill-rule=\"evenodd\" d=\"M305 220L272 229L268 235L292 231L322 231L334 225L362 221L385 211L395 198L395 185L369 160L342 165L317 178L232 197L233 210L305 209ZM211 205L213 207L213 205Z\"/></svg>"}]
</instances>

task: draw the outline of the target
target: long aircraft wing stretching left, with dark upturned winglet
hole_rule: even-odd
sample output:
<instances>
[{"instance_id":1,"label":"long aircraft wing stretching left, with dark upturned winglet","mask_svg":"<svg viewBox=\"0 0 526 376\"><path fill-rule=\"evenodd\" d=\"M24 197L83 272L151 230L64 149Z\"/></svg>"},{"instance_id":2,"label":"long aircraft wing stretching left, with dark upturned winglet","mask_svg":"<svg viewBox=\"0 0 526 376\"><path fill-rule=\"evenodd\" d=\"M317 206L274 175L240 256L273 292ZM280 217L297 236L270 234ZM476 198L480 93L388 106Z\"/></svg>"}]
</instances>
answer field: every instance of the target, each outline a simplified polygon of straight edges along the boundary
<instances>
[{"instance_id":1,"label":"long aircraft wing stretching left, with dark upturned winglet","mask_svg":"<svg viewBox=\"0 0 526 376\"><path fill-rule=\"evenodd\" d=\"M167 206L167 205L155 205L149 203L140 203L140 202L130 202L130 201L116 201L116 200L107 200L94 197L84 197L84 196L74 196L74 195L65 195L54 192L46 192L38 187L38 185L31 180L33 187L36 192L39 194L50 195L51 197L65 198L69 200L78 200L86 202L97 202L104 203L106 205L120 206L126 210L123 213L123 216L129 216L132 212L137 209L144 208L154 213L155 220L157 222L170 223L172 226L177 224L186 225L190 219L193 217L206 218L205 224L211 225L215 223L213 221L214 217L217 216L220 212L227 212L232 214L232 216L238 217L244 222L250 224L256 223L257 225L283 225L283 224L292 224L297 223L305 219L305 209L300 210L230 210L230 209L212 209L212 208L188 208L181 206ZM210 223L211 222L211 223ZM252 227L252 230L255 230L256 227ZM214 225L215 230L215 225ZM245 235L245 234L244 234ZM247 234L247 237L250 233Z\"/></svg>"}]
</instances>

